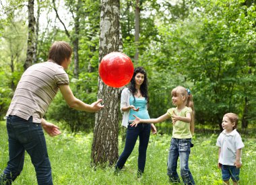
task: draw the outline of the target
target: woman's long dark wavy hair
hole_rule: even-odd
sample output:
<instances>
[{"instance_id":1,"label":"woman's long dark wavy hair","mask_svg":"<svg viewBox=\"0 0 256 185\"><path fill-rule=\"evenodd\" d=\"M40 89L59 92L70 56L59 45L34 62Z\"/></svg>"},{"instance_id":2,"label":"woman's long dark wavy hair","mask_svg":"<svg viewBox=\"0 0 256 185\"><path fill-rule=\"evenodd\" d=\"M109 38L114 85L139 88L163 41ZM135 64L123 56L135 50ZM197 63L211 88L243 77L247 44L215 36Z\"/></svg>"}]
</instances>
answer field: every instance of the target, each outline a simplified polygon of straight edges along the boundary
<instances>
[{"instance_id":1,"label":"woman's long dark wavy hair","mask_svg":"<svg viewBox=\"0 0 256 185\"><path fill-rule=\"evenodd\" d=\"M144 75L144 81L141 84L139 89L141 91L142 96L149 103L149 98L148 98L148 78L147 78L146 70L143 67L136 67L134 69L133 77L132 77L130 85L129 85L129 90L131 91L131 94L133 94L133 98L134 98L134 101L135 101L134 95L137 93L137 90L135 88L135 75L137 75L137 73L141 73L141 74Z\"/></svg>"}]
</instances>

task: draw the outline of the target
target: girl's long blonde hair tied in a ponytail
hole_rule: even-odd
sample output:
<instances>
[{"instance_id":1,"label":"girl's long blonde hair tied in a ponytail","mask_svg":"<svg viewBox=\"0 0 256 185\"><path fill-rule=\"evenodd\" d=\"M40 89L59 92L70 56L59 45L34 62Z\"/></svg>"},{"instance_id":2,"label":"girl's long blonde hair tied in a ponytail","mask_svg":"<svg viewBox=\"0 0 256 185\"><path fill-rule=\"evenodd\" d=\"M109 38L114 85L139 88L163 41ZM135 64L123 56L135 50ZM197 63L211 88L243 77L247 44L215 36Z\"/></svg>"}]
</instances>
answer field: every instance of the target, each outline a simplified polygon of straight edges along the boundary
<instances>
[{"instance_id":1,"label":"girl's long blonde hair tied in a ponytail","mask_svg":"<svg viewBox=\"0 0 256 185\"><path fill-rule=\"evenodd\" d=\"M183 86L178 86L172 89L172 96L183 96L185 97L185 106L190 107L192 109L191 113L191 122L190 122L190 131L192 135L195 131L195 110L194 110L194 103L191 91L186 89Z\"/></svg>"}]
</instances>

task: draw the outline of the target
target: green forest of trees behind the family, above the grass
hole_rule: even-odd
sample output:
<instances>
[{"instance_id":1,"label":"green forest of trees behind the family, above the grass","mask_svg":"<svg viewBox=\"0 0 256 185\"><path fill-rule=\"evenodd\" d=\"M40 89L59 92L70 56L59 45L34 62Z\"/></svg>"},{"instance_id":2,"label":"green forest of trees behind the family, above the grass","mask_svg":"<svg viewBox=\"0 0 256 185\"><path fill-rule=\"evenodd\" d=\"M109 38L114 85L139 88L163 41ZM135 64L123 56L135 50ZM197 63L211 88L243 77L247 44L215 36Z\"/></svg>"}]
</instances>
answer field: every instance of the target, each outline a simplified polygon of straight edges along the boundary
<instances>
[{"instance_id":1,"label":"green forest of trees behind the family, above the grass","mask_svg":"<svg viewBox=\"0 0 256 185\"><path fill-rule=\"evenodd\" d=\"M34 18L29 20L31 2ZM254 1L127 0L120 7L121 51L131 57L135 67L148 71L152 118L172 106L171 89L183 85L192 91L197 126L221 130L226 112L238 114L240 128L253 126ZM1 119L26 65L46 61L55 40L65 40L73 47L73 63L67 73L75 96L84 102L96 100L100 1L1 0L1 9ZM28 57L32 58L30 64ZM71 110L60 94L46 118L62 122L72 132L92 131L95 120L94 114Z\"/></svg>"}]
</instances>

